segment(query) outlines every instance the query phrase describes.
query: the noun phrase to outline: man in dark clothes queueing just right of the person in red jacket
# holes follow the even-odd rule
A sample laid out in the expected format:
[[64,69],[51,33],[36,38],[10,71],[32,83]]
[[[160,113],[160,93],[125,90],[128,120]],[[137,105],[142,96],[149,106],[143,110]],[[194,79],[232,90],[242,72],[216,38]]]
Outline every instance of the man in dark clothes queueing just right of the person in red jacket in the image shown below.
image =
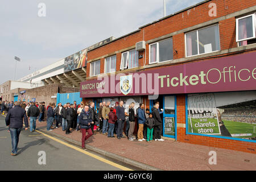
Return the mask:
[[117,138],[125,138],[123,136],[123,127],[125,125],[125,108],[123,107],[123,101],[119,102],[119,105],[116,107],[117,110]]

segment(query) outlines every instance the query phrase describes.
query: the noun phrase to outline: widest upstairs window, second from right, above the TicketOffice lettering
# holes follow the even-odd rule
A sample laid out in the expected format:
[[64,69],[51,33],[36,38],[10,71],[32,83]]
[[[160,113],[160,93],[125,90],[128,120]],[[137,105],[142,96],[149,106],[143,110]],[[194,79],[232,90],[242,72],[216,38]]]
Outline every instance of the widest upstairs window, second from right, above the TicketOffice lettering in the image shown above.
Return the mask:
[[195,56],[220,50],[218,25],[185,34],[186,56]]

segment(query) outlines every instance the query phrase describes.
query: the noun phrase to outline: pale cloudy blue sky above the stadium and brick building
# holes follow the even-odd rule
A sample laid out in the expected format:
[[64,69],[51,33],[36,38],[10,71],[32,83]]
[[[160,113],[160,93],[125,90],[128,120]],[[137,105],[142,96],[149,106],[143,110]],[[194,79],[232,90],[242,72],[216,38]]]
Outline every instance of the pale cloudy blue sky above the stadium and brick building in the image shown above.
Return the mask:
[[[170,15],[203,0],[166,0]],[[39,17],[39,3],[46,16]],[[163,0],[2,1],[0,6],[0,84],[92,46],[110,36],[118,38],[163,17]],[[29,70],[28,68],[31,67]]]

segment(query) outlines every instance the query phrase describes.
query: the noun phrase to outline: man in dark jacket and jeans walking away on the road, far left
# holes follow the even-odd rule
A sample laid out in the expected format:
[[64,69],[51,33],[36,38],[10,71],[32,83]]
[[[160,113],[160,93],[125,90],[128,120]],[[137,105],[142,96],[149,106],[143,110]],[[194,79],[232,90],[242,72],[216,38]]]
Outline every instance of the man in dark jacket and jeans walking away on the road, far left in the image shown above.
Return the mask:
[[9,126],[11,134],[11,145],[13,147],[11,155],[13,156],[17,155],[18,153],[19,134],[23,127],[23,118],[25,123],[25,130],[27,130],[28,119],[26,110],[22,109],[20,102],[18,101],[5,118],[6,126]]

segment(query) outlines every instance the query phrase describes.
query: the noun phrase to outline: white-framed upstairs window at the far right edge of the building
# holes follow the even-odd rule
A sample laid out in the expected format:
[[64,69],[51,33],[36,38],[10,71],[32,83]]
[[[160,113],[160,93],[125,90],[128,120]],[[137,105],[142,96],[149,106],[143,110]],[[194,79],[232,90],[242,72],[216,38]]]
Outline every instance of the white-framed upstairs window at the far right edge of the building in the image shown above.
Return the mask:
[[239,46],[255,43],[255,22],[255,14],[236,19],[236,41],[239,42]]

